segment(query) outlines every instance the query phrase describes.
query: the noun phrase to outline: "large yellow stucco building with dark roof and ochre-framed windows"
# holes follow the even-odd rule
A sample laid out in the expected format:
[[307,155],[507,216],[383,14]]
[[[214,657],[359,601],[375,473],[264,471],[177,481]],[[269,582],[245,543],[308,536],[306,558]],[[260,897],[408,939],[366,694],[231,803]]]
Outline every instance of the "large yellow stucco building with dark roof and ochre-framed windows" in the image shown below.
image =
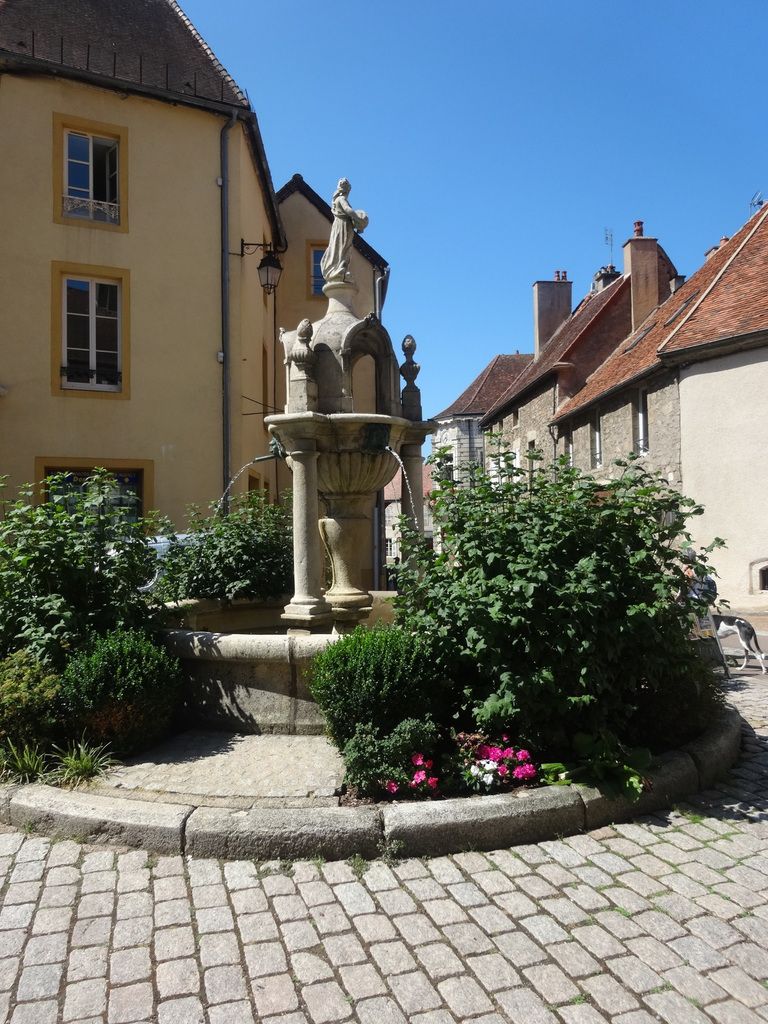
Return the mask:
[[172,0],[4,0],[0,135],[0,474],[105,466],[181,523],[267,451],[282,374],[255,115]]

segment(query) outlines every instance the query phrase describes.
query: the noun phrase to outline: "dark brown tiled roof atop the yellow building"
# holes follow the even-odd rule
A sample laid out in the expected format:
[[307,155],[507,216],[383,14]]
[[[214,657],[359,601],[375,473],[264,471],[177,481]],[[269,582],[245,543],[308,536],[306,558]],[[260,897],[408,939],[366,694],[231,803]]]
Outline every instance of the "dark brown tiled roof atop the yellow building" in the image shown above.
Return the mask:
[[175,0],[0,0],[0,56],[248,109]]

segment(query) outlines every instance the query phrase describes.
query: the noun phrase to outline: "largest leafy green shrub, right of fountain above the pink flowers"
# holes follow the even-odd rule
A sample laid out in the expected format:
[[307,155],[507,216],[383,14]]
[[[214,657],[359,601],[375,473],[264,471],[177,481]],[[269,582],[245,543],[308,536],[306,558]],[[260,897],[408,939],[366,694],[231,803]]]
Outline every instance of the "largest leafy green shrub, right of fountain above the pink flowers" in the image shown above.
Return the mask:
[[[564,461],[523,471],[499,451],[496,464],[494,479],[474,467],[470,486],[437,485],[440,548],[407,537],[395,599],[479,726],[566,759],[577,733],[655,745],[680,708],[707,718],[683,702],[698,667],[680,560],[702,509],[634,461],[607,483]],[[707,553],[694,561],[703,575]],[[644,729],[633,724],[642,706]]]

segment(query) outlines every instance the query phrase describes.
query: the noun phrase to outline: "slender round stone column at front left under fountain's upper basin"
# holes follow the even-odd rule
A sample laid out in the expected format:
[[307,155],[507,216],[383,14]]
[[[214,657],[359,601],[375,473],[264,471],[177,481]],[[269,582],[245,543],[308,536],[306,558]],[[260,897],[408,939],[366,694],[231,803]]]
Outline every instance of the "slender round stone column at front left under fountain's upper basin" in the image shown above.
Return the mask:
[[[302,443],[302,442],[298,442]],[[283,612],[296,626],[324,625],[331,605],[323,596],[323,548],[317,528],[317,452],[307,440],[288,455],[293,473],[294,595]]]

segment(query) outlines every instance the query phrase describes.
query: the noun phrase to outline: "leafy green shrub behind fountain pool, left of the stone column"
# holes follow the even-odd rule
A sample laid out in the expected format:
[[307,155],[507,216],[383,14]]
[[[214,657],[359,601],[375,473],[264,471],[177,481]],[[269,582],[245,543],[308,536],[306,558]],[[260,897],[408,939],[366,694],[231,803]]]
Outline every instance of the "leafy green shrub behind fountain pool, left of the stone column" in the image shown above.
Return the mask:
[[217,505],[210,516],[193,508],[189,531],[163,560],[156,588],[161,600],[267,599],[293,590],[290,510],[270,505],[259,492],[232,499],[226,515]]

